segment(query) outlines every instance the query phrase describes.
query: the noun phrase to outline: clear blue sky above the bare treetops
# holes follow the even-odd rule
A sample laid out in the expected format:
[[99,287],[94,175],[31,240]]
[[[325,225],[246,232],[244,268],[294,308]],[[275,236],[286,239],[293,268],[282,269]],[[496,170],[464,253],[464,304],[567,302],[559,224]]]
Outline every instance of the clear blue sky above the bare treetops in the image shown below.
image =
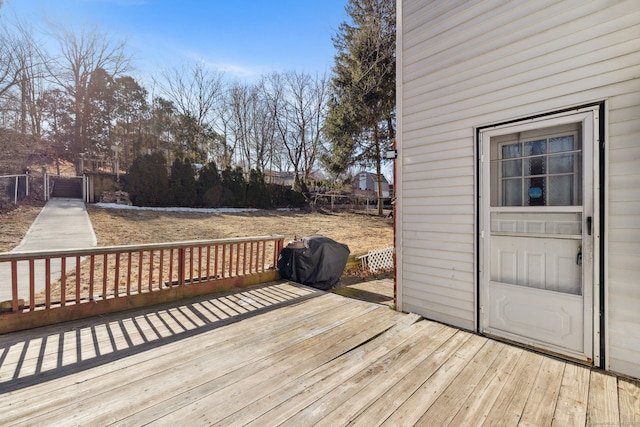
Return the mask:
[[193,59],[231,79],[271,71],[330,73],[331,37],[347,20],[347,0],[5,0],[3,18],[34,27],[47,19],[126,37],[143,80]]

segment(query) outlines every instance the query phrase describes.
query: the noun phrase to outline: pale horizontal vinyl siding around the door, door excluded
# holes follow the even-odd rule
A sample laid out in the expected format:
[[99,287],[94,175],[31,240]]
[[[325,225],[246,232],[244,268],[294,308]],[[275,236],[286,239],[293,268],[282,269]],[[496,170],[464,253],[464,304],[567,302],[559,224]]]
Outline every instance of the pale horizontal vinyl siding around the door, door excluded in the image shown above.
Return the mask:
[[398,1],[398,306],[477,329],[475,128],[606,102],[605,360],[640,377],[640,3]]

